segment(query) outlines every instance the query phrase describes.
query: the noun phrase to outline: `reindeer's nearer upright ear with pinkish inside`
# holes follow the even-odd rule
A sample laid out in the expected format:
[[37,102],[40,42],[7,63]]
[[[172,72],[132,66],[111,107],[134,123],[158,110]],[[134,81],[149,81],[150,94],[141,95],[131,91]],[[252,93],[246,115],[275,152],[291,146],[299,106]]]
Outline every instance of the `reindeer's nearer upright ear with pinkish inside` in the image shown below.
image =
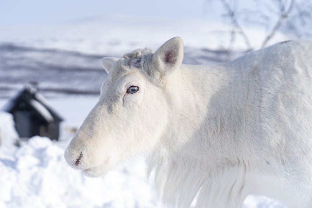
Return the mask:
[[162,70],[162,74],[167,74],[178,68],[182,60],[183,40],[181,37],[171,38],[160,46],[153,55],[153,63],[156,64],[156,70]]

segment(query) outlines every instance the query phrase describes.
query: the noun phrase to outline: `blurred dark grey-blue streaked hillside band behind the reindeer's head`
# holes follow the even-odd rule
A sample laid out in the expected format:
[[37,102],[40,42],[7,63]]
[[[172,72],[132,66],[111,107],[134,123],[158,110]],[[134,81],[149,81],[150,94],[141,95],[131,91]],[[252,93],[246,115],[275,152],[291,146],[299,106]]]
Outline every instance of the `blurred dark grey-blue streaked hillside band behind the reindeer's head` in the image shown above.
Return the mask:
[[[243,54],[232,53],[236,53],[237,56]],[[31,82],[36,82],[38,90],[46,97],[100,94],[100,87],[107,77],[100,64],[104,56],[110,55],[90,55],[76,51],[2,43],[0,44],[0,98],[12,96]],[[228,57],[226,51],[186,47],[183,63],[213,65],[227,61]]]

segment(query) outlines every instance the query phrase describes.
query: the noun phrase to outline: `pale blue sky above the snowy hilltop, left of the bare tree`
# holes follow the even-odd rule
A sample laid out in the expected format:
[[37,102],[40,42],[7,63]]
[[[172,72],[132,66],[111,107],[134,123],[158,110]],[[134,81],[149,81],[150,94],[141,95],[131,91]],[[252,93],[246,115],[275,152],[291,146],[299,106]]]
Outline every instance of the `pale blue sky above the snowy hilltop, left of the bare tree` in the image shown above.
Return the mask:
[[0,26],[57,24],[79,19],[124,14],[211,19],[213,0],[2,0]]

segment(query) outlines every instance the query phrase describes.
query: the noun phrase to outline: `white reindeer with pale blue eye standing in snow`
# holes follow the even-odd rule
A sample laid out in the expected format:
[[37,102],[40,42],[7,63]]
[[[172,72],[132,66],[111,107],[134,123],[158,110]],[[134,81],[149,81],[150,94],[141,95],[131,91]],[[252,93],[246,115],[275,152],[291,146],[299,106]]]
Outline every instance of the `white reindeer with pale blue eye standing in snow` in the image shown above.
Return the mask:
[[155,53],[103,58],[99,102],[66,152],[97,177],[141,152],[163,202],[238,208],[264,195],[312,207],[312,41],[295,40],[216,66],[184,65],[175,37]]

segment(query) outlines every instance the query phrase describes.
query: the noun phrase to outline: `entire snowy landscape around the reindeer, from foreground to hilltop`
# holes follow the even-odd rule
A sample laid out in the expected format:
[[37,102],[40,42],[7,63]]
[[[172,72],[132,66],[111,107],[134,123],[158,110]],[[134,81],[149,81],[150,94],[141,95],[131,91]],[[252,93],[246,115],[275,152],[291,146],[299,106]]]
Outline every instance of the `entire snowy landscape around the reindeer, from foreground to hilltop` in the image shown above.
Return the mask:
[[[127,21],[125,21],[127,20]],[[31,79],[65,121],[61,140],[31,138],[22,147],[13,145],[17,133],[12,116],[0,113],[0,208],[19,207],[162,207],[153,181],[145,180],[148,159],[129,159],[99,178],[72,170],[63,158],[78,128],[97,102],[106,75],[102,56],[122,56],[135,48],[157,49],[173,36],[186,47],[185,63],[213,64],[227,59],[218,49],[226,47],[227,26],[198,20],[99,17],[49,26],[0,28],[0,108]],[[248,31],[257,47],[261,32]],[[222,33],[223,34],[223,33]],[[275,41],[285,40],[278,35]],[[238,41],[236,50],[243,48]],[[209,49],[209,50],[208,50]],[[211,51],[214,50],[214,51]],[[76,95],[74,95],[76,94]],[[89,94],[89,95],[83,95]],[[90,95],[93,94],[93,95]],[[275,200],[250,196],[244,208],[284,208]]]

